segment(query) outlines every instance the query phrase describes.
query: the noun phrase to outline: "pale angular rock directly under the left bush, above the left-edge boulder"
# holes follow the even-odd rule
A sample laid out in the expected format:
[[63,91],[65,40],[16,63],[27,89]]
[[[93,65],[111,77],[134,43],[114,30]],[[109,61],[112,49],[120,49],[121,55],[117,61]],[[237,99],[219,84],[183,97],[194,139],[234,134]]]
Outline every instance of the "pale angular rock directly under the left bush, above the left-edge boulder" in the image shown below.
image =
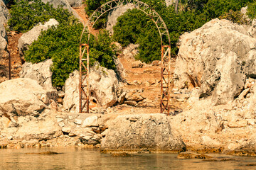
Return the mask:
[[44,89],[53,89],[52,86],[52,74],[50,67],[53,61],[46,60],[44,62],[39,62],[37,64],[32,64],[31,62],[25,62],[22,65],[20,72],[21,78],[30,78],[38,81],[38,84],[43,86]]

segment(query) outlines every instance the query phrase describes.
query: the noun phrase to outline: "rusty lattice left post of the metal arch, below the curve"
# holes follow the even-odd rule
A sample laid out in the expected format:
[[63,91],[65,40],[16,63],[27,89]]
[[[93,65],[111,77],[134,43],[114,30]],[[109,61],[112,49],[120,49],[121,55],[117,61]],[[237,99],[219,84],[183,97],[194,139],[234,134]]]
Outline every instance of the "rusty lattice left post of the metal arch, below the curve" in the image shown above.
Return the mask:
[[89,113],[89,45],[80,44],[79,58],[79,113]]

